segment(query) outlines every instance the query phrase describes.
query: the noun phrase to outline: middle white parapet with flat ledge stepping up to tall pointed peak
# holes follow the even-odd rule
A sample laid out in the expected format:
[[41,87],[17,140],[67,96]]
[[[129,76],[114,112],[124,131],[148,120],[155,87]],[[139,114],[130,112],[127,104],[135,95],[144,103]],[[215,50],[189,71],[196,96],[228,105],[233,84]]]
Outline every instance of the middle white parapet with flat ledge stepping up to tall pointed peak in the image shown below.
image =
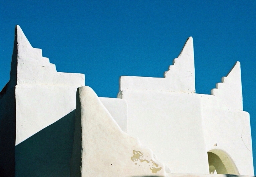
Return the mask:
[[[194,74],[193,38],[189,37],[178,58],[164,73],[165,78],[149,78],[137,76],[121,76],[120,91],[124,90],[155,90],[190,92],[196,91]],[[119,95],[121,95],[119,92]]]

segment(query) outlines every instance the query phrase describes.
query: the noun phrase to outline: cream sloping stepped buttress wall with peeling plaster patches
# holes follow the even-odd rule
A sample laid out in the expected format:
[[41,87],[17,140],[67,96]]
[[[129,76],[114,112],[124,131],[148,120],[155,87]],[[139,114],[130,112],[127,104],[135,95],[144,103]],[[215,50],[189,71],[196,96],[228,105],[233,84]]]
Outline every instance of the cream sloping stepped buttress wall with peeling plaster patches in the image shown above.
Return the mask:
[[146,175],[166,176],[165,166],[140,145],[138,138],[120,129],[90,87],[79,87],[71,176]]

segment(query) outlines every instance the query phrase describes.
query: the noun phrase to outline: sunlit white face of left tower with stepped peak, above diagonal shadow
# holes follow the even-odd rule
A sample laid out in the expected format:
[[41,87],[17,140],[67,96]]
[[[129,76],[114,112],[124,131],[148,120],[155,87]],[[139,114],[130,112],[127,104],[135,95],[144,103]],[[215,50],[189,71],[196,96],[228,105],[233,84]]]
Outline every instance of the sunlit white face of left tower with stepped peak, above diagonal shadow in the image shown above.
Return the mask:
[[[75,109],[84,74],[59,73],[16,26],[9,87],[16,84],[16,145]],[[15,53],[16,52],[16,53]],[[15,63],[16,62],[16,66]],[[16,83],[14,80],[16,79]],[[12,82],[11,82],[12,81]]]

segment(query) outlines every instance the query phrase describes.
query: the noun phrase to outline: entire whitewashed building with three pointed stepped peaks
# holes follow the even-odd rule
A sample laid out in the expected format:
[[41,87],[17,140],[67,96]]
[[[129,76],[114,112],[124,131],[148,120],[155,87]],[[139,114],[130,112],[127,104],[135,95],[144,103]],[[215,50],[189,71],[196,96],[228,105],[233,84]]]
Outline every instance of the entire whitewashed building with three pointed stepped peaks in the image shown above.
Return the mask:
[[240,63],[195,93],[193,39],[164,78],[121,76],[118,98],[59,73],[15,29],[0,92],[0,176],[254,176]]

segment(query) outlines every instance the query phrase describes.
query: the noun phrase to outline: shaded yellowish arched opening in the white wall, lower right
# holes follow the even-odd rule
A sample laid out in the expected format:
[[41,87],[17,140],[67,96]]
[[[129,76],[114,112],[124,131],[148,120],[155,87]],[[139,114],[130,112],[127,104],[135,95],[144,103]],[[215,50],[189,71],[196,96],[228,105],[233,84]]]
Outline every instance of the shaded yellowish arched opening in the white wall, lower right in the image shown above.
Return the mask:
[[224,151],[213,149],[207,152],[207,154],[210,174],[239,175],[234,161]]

